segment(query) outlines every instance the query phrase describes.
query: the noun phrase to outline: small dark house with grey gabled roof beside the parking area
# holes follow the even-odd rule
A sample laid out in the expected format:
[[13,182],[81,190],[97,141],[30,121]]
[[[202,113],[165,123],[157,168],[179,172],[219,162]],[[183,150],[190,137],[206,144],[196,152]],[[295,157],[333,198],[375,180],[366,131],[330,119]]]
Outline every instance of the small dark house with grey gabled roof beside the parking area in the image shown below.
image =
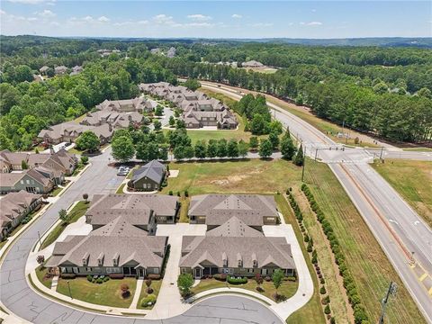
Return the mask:
[[132,172],[132,179],[128,185],[135,190],[159,190],[166,179],[166,166],[157,160],[152,160]]

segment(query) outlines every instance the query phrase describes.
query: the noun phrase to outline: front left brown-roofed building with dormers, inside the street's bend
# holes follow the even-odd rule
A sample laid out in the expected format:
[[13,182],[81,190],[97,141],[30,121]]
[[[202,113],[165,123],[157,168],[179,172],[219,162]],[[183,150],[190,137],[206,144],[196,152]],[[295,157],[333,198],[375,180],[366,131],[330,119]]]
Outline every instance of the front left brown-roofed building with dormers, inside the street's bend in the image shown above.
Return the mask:
[[57,242],[46,266],[50,273],[78,276],[161,275],[167,240],[147,236],[119,217],[87,236],[67,236]]

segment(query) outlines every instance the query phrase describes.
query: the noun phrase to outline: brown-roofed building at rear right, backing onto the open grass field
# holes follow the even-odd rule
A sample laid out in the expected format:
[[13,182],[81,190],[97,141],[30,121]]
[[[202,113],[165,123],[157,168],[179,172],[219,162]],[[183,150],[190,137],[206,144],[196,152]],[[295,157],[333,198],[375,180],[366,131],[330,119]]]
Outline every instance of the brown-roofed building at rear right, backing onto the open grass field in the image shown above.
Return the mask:
[[279,222],[275,198],[261,194],[202,194],[193,196],[188,211],[190,222],[214,229],[232,217],[261,230]]

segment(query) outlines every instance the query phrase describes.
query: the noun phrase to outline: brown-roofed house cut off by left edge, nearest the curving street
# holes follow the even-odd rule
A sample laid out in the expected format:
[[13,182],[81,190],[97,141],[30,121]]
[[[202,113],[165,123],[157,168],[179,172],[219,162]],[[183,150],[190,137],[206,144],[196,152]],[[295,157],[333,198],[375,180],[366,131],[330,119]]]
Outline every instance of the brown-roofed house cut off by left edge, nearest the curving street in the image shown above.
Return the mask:
[[4,239],[12,232],[25,216],[40,207],[42,198],[40,194],[20,191],[8,193],[1,201],[0,209],[1,232],[0,239]]

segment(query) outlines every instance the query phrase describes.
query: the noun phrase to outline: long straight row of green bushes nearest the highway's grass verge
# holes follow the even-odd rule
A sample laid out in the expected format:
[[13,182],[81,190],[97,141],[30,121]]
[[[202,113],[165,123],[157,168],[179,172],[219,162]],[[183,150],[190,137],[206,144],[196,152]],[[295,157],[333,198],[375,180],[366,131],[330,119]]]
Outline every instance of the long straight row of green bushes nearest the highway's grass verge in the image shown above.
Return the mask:
[[329,220],[326,219],[324,212],[321,211],[320,206],[315,201],[315,197],[313,196],[313,193],[311,193],[311,189],[307,184],[302,184],[302,192],[308,198],[308,201],[311,205],[311,210],[315,212],[317,220],[321,223],[324,234],[326,234],[327,238],[329,239],[331,250],[335,256],[336,264],[339,268],[339,274],[342,275],[344,287],[347,290],[348,301],[351,303],[351,307],[354,311],[356,324],[369,323],[365,308],[362,306],[360,296],[357,293],[356,283],[354,282],[354,279],[347,268],[345,256],[340,248],[338,238],[336,238]]

